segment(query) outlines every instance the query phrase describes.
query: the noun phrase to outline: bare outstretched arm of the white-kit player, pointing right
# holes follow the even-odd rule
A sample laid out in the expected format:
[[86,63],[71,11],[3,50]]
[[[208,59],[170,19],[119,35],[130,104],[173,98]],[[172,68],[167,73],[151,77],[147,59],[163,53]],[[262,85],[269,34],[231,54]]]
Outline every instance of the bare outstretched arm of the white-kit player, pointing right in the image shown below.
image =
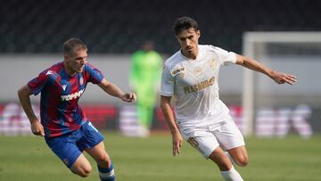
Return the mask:
[[236,54],[236,64],[242,65],[245,68],[250,70],[255,70],[266,74],[269,78],[272,78],[276,81],[277,84],[290,84],[293,85],[296,82],[296,77],[290,74],[286,74],[284,72],[278,72],[275,70],[269,69],[264,64],[251,59],[250,57],[245,57],[240,54]]

